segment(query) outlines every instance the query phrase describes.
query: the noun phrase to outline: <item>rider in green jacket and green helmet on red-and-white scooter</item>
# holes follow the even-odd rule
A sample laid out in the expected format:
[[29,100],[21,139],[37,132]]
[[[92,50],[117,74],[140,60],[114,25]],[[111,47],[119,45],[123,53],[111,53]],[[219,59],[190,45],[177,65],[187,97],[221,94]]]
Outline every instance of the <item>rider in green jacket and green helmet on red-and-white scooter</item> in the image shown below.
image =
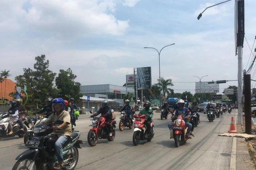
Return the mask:
[[150,108],[150,101],[146,101],[144,102],[144,108],[140,111],[139,114],[146,114],[147,117],[145,119],[145,125],[147,126],[147,129],[146,129],[146,135],[145,137],[147,137],[147,135],[150,133],[151,131],[151,122],[152,122],[152,118],[153,118],[153,110]]

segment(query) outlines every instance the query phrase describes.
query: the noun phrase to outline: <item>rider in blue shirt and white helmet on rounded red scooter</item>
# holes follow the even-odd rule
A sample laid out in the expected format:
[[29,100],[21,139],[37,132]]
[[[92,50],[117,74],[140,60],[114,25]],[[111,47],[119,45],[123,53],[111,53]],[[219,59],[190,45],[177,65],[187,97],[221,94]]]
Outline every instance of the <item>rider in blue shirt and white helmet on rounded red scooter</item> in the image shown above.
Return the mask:
[[[182,99],[180,99],[180,100],[178,101],[178,109],[176,109],[176,111],[175,111],[175,116],[176,116],[176,117],[177,117],[178,115],[182,115],[182,116],[183,116],[182,119],[185,121],[185,126],[188,127],[188,131],[187,131],[185,137],[186,137],[187,139],[192,139],[192,137],[189,136],[190,131],[191,131],[191,129],[192,129],[192,124],[189,123],[188,120],[187,120],[187,116],[190,116],[191,113],[190,113],[189,109],[188,109],[187,107],[184,107],[184,106],[185,106],[185,101],[182,100]],[[173,122],[170,122],[170,123],[168,124],[168,127],[169,127],[169,129],[170,129],[170,133],[173,133],[173,132],[172,132]]]

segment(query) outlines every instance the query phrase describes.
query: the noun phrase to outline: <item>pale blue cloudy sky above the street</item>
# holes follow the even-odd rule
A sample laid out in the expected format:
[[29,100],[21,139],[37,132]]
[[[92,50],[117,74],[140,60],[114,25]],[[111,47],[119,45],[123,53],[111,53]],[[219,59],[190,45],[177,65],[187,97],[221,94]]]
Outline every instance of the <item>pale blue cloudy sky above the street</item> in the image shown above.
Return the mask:
[[[160,50],[175,43],[161,52],[161,77],[173,80],[174,92],[195,93],[198,78],[193,76],[208,75],[202,81],[237,79],[234,1],[208,9],[197,20],[204,8],[220,1],[0,0],[0,70],[10,70],[14,80],[45,54],[50,70],[70,67],[82,85],[122,86],[136,67],[151,67],[154,84],[158,54],[143,47]],[[245,36],[251,48],[255,7],[255,0],[245,1]],[[244,42],[244,69],[251,53],[248,44]],[[220,92],[230,85],[237,82],[220,84]]]

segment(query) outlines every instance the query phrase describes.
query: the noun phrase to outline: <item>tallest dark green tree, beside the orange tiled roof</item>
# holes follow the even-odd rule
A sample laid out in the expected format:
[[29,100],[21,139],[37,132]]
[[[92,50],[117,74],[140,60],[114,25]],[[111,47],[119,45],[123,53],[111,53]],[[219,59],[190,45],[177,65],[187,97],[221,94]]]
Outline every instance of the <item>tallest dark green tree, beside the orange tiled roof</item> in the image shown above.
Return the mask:
[[27,86],[28,106],[42,107],[46,97],[57,96],[57,90],[53,86],[56,73],[48,69],[49,60],[46,60],[45,55],[35,57],[35,61],[34,70],[23,68],[23,75],[16,76],[15,80],[17,86]]

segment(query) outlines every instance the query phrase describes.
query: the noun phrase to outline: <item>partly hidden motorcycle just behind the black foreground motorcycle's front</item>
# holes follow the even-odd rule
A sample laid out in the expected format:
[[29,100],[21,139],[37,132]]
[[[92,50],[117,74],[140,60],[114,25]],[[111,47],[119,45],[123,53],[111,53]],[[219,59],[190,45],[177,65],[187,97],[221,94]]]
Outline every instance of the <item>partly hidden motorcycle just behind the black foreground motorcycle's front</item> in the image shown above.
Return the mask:
[[24,144],[27,143],[28,140],[31,140],[34,136],[34,132],[33,132],[33,129],[36,125],[38,125],[39,123],[42,123],[46,120],[47,118],[44,117],[43,114],[40,114],[39,116],[36,115],[36,116],[33,116],[31,118],[28,118],[28,122],[31,124],[31,127],[27,130],[27,132],[25,133],[24,135],[24,139],[23,139],[23,142]]

